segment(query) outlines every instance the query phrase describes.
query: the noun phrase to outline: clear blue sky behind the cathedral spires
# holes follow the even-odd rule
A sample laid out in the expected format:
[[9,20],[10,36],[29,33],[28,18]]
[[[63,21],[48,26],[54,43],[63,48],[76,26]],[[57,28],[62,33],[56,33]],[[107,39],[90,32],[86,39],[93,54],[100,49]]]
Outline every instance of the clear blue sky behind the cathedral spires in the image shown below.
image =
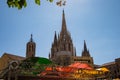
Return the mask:
[[62,11],[71,33],[77,56],[81,56],[84,40],[95,64],[120,58],[120,0],[67,0],[59,7],[41,0],[27,0],[21,10],[9,8],[0,0],[0,56],[5,52],[26,56],[26,44],[33,34],[36,56],[48,58],[55,31],[61,31]]

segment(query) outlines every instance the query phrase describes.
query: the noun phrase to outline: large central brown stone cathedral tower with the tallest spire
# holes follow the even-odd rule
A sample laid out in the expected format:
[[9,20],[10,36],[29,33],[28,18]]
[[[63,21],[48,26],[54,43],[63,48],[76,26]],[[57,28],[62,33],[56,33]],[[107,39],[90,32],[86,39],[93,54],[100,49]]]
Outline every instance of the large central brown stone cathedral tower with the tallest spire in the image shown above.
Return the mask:
[[49,58],[59,65],[68,65],[70,62],[64,61],[66,61],[65,59],[67,58],[70,59],[71,56],[76,56],[76,53],[75,48],[73,47],[71,35],[67,30],[65,13],[63,10],[62,27],[60,35],[57,36],[55,32],[54,41],[52,43],[51,54],[49,54]]

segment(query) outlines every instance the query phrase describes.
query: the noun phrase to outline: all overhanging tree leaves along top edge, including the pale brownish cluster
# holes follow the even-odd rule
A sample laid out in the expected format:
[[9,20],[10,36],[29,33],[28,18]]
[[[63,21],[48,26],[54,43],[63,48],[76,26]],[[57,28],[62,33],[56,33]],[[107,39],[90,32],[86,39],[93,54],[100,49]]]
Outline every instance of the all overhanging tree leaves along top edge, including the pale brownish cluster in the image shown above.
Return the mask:
[[[34,0],[37,5],[40,5],[41,0]],[[53,0],[47,0],[49,2],[53,2]],[[66,0],[58,0],[56,5],[65,6]],[[7,4],[9,7],[22,9],[27,6],[27,0],[7,0]]]

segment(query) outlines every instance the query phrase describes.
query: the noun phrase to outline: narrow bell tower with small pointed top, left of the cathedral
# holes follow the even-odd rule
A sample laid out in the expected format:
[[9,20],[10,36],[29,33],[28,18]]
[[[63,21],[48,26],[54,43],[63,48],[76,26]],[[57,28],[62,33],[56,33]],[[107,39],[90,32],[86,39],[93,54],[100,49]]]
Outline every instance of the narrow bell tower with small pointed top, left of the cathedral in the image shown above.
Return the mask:
[[27,43],[26,45],[26,58],[29,58],[29,57],[35,57],[35,49],[36,49],[36,44],[35,42],[33,41],[33,38],[32,38],[32,34],[31,34],[31,38],[30,38],[30,41]]

